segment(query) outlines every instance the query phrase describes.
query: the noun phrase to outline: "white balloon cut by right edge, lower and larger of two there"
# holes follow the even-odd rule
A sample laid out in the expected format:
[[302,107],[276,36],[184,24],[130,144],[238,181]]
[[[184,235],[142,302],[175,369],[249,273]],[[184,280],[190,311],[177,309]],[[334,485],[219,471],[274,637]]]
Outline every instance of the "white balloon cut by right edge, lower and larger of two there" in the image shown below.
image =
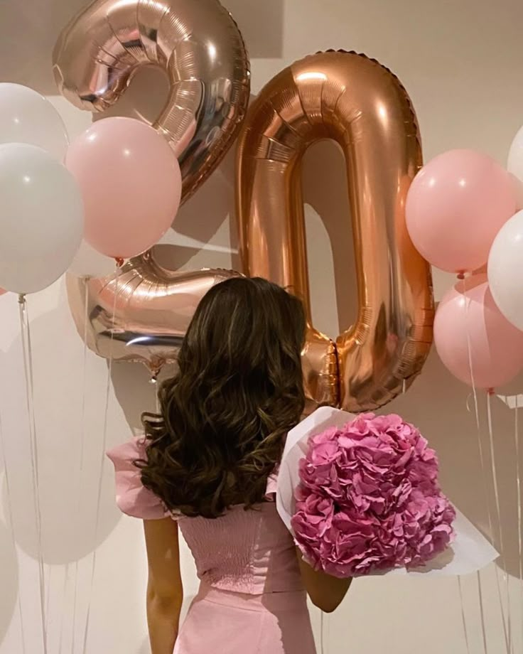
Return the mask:
[[523,330],[523,211],[503,225],[492,244],[488,282],[498,309]]

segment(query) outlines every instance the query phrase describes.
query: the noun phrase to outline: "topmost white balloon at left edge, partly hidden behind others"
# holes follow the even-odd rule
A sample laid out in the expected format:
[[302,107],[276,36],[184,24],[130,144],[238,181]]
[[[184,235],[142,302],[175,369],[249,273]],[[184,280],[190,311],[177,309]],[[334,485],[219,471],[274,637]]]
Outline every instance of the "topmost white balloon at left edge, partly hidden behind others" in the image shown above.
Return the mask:
[[36,145],[63,161],[69,139],[65,124],[47,98],[33,89],[0,83],[0,144]]

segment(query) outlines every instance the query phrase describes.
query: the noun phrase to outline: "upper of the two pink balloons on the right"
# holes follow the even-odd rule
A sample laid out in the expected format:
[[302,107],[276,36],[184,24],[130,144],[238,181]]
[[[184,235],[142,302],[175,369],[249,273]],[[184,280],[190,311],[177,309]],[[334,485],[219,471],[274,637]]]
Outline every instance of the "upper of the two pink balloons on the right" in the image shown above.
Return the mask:
[[429,161],[406,200],[414,246],[434,266],[470,272],[488,259],[497,232],[516,212],[516,188],[490,156],[451,150]]

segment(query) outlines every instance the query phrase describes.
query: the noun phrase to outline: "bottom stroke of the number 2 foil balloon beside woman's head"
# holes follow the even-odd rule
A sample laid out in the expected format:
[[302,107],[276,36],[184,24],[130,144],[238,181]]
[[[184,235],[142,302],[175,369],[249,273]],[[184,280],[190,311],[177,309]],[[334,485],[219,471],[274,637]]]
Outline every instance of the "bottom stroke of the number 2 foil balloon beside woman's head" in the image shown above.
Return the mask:
[[77,331],[87,336],[90,350],[115,361],[144,363],[156,377],[163,365],[176,360],[205,293],[237,276],[219,269],[173,272],[148,252],[106,279],[68,275],[67,288]]

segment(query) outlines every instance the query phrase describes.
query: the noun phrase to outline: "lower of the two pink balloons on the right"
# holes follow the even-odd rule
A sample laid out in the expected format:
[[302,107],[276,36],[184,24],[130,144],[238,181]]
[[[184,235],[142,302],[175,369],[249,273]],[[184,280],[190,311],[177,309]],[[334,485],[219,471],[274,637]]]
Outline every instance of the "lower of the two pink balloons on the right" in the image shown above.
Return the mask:
[[485,274],[463,279],[443,297],[434,343],[446,368],[470,386],[496,388],[523,369],[523,331],[497,309]]

